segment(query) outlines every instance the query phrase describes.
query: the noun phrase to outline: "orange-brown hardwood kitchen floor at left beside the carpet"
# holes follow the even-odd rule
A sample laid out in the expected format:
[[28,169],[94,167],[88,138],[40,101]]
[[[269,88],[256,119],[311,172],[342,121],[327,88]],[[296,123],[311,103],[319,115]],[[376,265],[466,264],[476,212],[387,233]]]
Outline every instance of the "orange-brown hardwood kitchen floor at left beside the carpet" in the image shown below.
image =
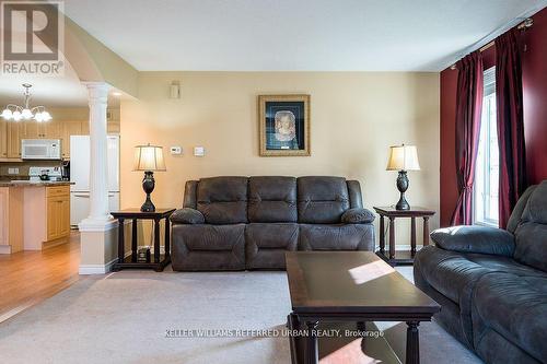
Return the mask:
[[80,279],[80,234],[42,251],[0,255],[0,322],[65,290]]

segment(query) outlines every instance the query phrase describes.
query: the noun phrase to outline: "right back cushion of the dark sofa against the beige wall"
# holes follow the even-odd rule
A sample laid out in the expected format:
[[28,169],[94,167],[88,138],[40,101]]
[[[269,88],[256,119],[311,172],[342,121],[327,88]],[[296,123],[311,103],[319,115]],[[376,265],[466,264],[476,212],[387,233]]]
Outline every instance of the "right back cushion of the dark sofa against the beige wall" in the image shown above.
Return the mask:
[[298,178],[299,222],[336,224],[349,209],[346,179],[341,177]]

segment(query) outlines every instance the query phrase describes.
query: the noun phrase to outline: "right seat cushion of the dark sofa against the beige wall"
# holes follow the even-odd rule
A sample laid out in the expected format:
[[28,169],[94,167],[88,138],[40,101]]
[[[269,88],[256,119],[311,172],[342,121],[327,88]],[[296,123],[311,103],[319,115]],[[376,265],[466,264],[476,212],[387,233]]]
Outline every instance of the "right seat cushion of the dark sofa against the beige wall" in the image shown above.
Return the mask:
[[299,250],[374,250],[372,224],[300,224]]

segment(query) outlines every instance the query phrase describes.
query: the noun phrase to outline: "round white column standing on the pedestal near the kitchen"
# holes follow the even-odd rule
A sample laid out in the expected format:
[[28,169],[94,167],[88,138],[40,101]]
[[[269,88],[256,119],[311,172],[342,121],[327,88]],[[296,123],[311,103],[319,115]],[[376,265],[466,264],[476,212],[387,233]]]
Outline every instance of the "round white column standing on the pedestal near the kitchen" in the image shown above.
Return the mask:
[[104,226],[112,221],[108,211],[108,168],[106,143],[106,106],[109,85],[85,82],[90,105],[90,215],[80,228]]

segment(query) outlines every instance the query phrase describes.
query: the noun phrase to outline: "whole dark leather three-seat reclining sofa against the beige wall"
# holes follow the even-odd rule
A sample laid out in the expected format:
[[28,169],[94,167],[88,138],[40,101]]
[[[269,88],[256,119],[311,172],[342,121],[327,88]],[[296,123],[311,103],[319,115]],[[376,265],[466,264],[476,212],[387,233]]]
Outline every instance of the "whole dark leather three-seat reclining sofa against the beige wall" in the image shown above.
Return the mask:
[[175,211],[174,270],[284,269],[288,250],[373,250],[374,214],[342,177],[189,180]]

